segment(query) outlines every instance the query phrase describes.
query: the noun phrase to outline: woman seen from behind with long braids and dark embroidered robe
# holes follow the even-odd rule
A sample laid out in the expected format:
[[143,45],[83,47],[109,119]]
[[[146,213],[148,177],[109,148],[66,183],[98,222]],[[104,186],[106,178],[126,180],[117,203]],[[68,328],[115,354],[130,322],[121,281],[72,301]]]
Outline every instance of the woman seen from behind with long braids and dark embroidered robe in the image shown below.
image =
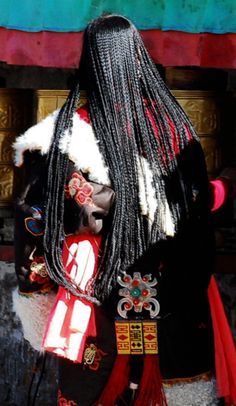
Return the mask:
[[[41,301],[48,316],[50,290],[43,347],[60,359],[59,405],[217,404],[199,139],[124,17],[88,25],[80,81],[86,106],[78,82],[15,143],[31,168],[17,203],[18,313]],[[114,319],[127,355],[116,357]]]

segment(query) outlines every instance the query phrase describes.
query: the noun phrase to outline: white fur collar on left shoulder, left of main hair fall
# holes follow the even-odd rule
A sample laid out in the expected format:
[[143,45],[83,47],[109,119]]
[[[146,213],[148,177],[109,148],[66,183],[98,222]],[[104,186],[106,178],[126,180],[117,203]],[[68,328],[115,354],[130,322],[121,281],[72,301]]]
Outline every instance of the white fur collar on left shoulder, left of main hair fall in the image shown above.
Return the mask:
[[[59,110],[54,111],[16,139],[13,144],[16,166],[22,165],[24,152],[27,150],[38,150],[42,155],[49,151],[58,112]],[[110,186],[108,168],[99,151],[92,126],[82,120],[78,113],[73,116],[71,136],[67,131],[59,147],[63,153],[69,155],[76,169],[88,173],[90,180]]]

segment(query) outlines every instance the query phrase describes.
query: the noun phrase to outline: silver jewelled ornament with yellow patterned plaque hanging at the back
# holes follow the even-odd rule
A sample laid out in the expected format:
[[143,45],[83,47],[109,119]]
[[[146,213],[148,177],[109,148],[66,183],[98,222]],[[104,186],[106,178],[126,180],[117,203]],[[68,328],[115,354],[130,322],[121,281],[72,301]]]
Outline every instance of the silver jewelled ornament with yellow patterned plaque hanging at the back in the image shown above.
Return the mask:
[[[157,318],[160,312],[155,298],[157,291],[153,288],[157,285],[156,278],[152,278],[151,274],[141,276],[139,272],[134,272],[133,277],[128,274],[118,277],[118,283],[122,286],[118,291],[122,299],[117,305],[122,319],[115,322],[118,354],[157,354],[157,321],[150,320]],[[144,310],[149,312],[149,320],[144,320]],[[130,311],[135,320],[128,320]],[[139,317],[136,318],[135,313]]]

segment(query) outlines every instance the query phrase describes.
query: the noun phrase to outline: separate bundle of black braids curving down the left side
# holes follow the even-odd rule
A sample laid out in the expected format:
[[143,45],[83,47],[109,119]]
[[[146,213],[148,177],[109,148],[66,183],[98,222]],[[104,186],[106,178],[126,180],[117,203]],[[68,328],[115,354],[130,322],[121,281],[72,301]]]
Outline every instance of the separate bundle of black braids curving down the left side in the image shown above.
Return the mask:
[[[59,149],[59,143],[66,131],[71,133],[73,114],[80,98],[79,85],[69,94],[66,103],[59,111],[54,138],[47,158],[47,186],[45,192],[45,233],[44,255],[49,276],[58,284],[80,297],[62,264],[62,244],[64,240],[64,190],[69,157]],[[69,142],[69,140],[68,140]],[[93,299],[91,299],[93,301]],[[96,300],[94,300],[96,301]]]

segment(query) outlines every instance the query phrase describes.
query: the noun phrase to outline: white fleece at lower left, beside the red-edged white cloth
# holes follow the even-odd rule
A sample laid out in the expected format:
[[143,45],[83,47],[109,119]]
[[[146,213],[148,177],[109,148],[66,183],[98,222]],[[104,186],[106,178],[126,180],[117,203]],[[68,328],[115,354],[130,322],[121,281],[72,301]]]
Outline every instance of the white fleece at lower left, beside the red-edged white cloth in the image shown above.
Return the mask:
[[17,289],[13,291],[13,310],[21,321],[24,338],[37,351],[42,351],[44,330],[55,297],[54,292],[24,296]]

